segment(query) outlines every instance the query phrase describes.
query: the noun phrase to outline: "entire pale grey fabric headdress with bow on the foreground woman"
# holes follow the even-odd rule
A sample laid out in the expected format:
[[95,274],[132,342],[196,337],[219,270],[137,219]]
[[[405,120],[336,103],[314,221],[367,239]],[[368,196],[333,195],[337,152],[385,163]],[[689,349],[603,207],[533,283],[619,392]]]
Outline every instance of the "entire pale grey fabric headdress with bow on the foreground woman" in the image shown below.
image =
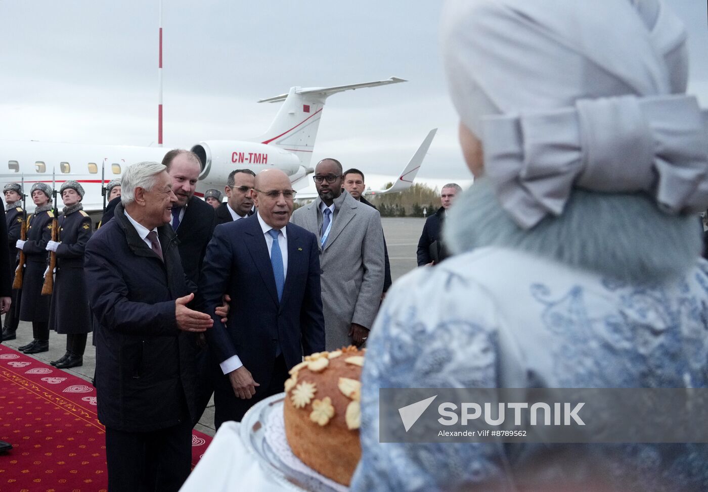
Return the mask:
[[708,208],[686,37],[660,0],[446,2],[452,102],[520,227],[562,213],[573,187],[645,192],[668,213]]

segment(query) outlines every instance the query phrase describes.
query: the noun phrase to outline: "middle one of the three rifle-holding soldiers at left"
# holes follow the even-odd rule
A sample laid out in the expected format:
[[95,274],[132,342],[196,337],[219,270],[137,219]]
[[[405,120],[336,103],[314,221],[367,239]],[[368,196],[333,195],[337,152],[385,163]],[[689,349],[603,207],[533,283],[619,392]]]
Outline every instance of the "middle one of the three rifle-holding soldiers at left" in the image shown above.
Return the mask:
[[52,238],[52,187],[36,182],[30,189],[35,212],[27,219],[27,240],[18,240],[16,247],[25,253],[23,266],[20,320],[32,322],[33,341],[19,347],[24,353],[49,350],[50,296],[42,295],[47,269],[47,242]]

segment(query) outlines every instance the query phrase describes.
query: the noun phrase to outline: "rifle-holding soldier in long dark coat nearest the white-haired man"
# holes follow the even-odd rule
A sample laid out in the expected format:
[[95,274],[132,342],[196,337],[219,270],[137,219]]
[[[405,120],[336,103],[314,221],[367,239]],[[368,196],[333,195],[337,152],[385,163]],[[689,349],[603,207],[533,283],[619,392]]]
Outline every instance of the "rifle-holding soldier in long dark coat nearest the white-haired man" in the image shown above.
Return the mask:
[[84,250],[91,238],[91,217],[81,200],[84,188],[74,180],[59,189],[64,210],[59,217],[59,241],[47,242],[47,251],[57,254],[57,276],[52,293],[49,326],[67,335],[67,353],[51,364],[59,369],[84,363],[86,338],[91,332],[89,297],[84,281]]

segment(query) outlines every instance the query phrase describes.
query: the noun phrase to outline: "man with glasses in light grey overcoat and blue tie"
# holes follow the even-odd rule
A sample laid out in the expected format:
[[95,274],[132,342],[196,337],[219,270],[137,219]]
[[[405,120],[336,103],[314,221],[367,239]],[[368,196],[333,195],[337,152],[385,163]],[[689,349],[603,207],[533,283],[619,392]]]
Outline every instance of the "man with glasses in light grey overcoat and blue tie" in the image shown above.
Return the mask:
[[315,168],[319,197],[292,214],[317,237],[327,350],[365,343],[384,288],[384,234],[376,209],[342,190],[342,165],[323,159]]

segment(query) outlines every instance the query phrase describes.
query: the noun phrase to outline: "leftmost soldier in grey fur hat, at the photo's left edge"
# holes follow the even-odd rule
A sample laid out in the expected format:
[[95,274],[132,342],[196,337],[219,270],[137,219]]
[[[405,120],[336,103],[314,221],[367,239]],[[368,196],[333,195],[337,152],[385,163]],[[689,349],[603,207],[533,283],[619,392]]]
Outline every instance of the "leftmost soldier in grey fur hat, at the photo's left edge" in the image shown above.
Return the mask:
[[[20,239],[22,222],[25,217],[25,211],[22,208],[22,187],[18,183],[8,183],[2,191],[5,195],[6,204],[5,218],[7,220],[8,246],[10,249],[10,268],[12,269],[11,275],[14,276],[19,254],[19,250],[15,245],[17,240]],[[20,293],[19,289],[12,290],[12,304],[5,315],[2,329],[3,341],[14,340],[17,337],[15,332],[20,322]]]

